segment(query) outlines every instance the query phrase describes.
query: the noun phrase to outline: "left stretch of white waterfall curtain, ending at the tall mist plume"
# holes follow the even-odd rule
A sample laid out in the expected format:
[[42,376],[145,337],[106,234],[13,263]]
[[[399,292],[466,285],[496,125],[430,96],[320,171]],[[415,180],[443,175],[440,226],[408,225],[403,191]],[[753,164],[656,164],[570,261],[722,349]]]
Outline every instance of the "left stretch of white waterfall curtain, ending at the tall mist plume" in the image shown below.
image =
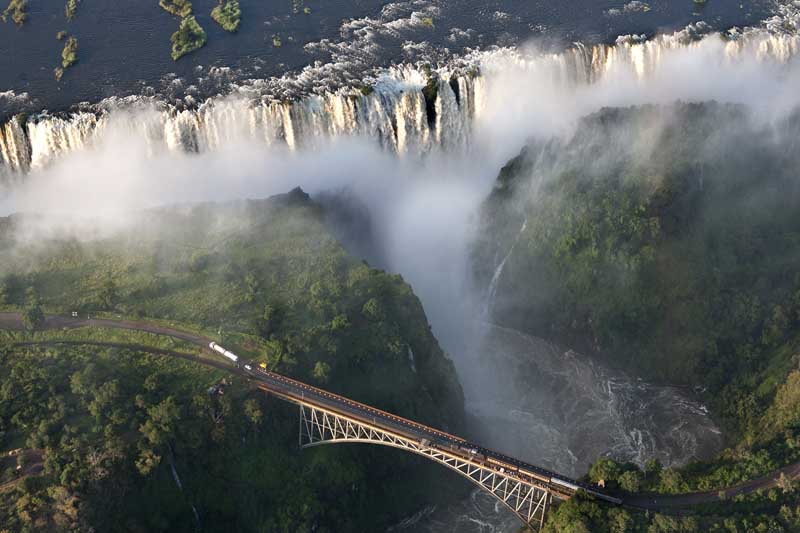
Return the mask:
[[[461,103],[444,75],[437,76],[436,118],[426,112],[424,75],[415,81],[380,81],[370,94],[341,91],[298,102],[252,102],[243,97],[212,98],[196,110],[177,110],[150,100],[127,106],[104,106],[68,116],[39,115],[23,125],[14,118],[0,129],[0,172],[23,174],[103,137],[113,122],[142,136],[154,150],[206,152],[240,139],[266,145],[283,143],[291,150],[313,148],[327,138],[362,135],[377,139],[397,154],[423,154],[432,143],[451,149],[469,142],[478,113],[482,84],[473,77],[454,78]],[[145,110],[146,119],[142,117]],[[2,174],[0,174],[2,175]]]

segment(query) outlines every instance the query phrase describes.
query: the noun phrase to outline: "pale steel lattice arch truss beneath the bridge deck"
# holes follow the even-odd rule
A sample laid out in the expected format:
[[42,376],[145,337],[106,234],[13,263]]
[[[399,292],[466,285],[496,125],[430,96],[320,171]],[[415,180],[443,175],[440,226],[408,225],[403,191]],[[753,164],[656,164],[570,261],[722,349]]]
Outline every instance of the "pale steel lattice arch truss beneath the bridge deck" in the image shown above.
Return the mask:
[[544,485],[522,480],[510,473],[465,459],[446,448],[425,444],[376,425],[318,407],[300,405],[300,446],[308,448],[337,442],[381,444],[416,453],[450,468],[500,500],[529,526],[541,529],[552,502],[552,493]]

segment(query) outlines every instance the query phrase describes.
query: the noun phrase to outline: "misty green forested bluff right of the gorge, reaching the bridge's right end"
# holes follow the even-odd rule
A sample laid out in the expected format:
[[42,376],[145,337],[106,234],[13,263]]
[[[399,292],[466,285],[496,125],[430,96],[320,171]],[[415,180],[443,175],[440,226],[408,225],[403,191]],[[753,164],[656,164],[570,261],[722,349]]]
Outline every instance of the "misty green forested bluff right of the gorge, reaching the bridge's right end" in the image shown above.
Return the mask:
[[[595,477],[612,488],[721,489],[800,460],[798,133],[800,116],[769,123],[733,105],[604,109],[502,169],[473,254],[492,320],[691,386],[731,435],[682,471],[603,463]],[[791,490],[739,502],[724,524],[711,509],[639,526],[797,530]],[[562,507],[553,531],[634,529]]]

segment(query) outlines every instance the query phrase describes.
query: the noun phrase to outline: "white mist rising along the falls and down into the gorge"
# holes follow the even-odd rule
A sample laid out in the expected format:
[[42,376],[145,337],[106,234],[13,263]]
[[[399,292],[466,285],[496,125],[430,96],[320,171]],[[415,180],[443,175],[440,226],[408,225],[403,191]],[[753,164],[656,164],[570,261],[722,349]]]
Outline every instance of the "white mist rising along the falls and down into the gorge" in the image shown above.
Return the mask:
[[[481,411],[484,418],[502,417],[511,409],[508,402],[524,387],[508,379],[522,365],[518,354],[529,349],[529,343],[515,340],[522,346],[511,350],[516,362],[497,359],[493,364],[498,371],[476,364],[479,358],[492,359],[494,352],[484,348],[490,319],[484,315],[487,287],[474,283],[470,264],[478,213],[502,165],[529,139],[566,141],[576,134],[581,117],[607,106],[716,100],[747,105],[756,120],[769,123],[800,104],[800,65],[793,53],[770,55],[754,41],[738,46],[718,35],[688,44],[681,37],[672,39],[639,45],[622,42],[589,79],[575,74],[575,61],[568,53],[545,54],[536,43],[522,50],[481,54],[482,92],[469,143],[434,146],[420,153],[395,154],[365,135],[316,139],[309,147],[292,150],[267,145],[244,127],[225,131],[213,150],[185,153],[153,145],[131,130],[130,124],[139,117],[143,124],[152,121],[155,109],[112,111],[102,137],[59,155],[10,186],[0,198],[0,215],[63,215],[91,221],[95,231],[114,231],[154,206],[266,197],[296,186],[312,198],[346,191],[366,206],[371,235],[380,243],[380,253],[370,262],[400,273],[420,297],[437,339],[465,384],[468,408]],[[760,39],[763,44],[772,37]],[[796,50],[797,43],[792,42],[795,48],[790,48]],[[226,103],[248,105],[235,97],[226,98]],[[647,150],[658,150],[645,141],[637,147],[643,156]],[[25,237],[53,229],[42,221]],[[76,237],[86,235],[80,225],[75,231]],[[480,353],[483,349],[487,353]],[[588,381],[584,367],[574,373]],[[578,394],[579,388],[573,392]],[[602,391],[588,385],[583,390],[600,398],[598,403],[611,403]],[[629,426],[618,425],[620,438],[625,438]],[[527,433],[497,431],[482,436],[491,439],[487,445],[538,459],[531,450],[538,444]],[[545,448],[563,455],[565,442],[554,436]],[[650,454],[658,447],[648,446]],[[565,471],[583,466],[563,457],[553,464]]]

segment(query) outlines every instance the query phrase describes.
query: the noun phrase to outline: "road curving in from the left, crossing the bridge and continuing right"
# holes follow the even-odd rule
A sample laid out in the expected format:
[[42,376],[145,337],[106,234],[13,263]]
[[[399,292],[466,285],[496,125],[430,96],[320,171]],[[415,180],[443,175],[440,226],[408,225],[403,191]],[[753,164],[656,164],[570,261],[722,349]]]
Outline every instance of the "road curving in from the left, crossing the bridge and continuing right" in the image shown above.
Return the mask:
[[[211,353],[215,353],[209,350],[208,345],[210,342],[212,342],[212,340],[207,337],[204,337],[196,333],[181,331],[178,329],[161,326],[158,324],[152,324],[148,322],[140,322],[132,320],[74,318],[74,317],[63,317],[63,316],[53,315],[53,316],[48,316],[45,319],[44,325],[42,326],[43,329],[75,329],[82,327],[127,329],[134,331],[143,331],[147,333],[154,333],[158,335],[166,335],[186,342],[190,342],[192,344],[197,345],[198,347],[202,348],[205,351],[210,351]],[[22,316],[19,313],[0,313],[0,329],[10,329],[10,330],[24,329]],[[332,409],[338,410],[339,412],[342,412],[343,414],[354,416],[358,419],[364,420],[365,422],[373,423],[375,425],[384,427],[385,429],[401,433],[411,438],[416,438],[416,439],[427,438],[434,442],[440,442],[445,445],[450,445],[454,451],[458,449],[460,450],[459,453],[462,454],[471,454],[472,453],[471,450],[474,450],[476,453],[484,455],[486,457],[492,457],[496,460],[512,464],[518,468],[535,472],[536,474],[541,475],[543,477],[560,479],[562,481],[574,484],[576,486],[591,490],[593,493],[603,496],[597,491],[595,487],[592,487],[590,485],[566,478],[555,472],[550,472],[548,470],[539,468],[535,465],[525,463],[523,461],[495,452],[493,450],[483,448],[477,444],[470,443],[460,437],[450,435],[449,433],[445,433],[443,431],[425,426],[423,424],[419,424],[412,420],[407,420],[405,418],[393,415],[391,413],[375,409],[374,407],[371,407],[369,405],[355,402],[353,400],[350,400],[349,398],[345,398],[343,396],[339,396],[330,393],[328,391],[312,387],[311,385],[308,385],[306,383],[287,378],[286,376],[282,376],[274,372],[264,371],[259,368],[254,367],[252,370],[246,371],[243,369],[234,368],[233,366],[222,360],[220,360],[219,362],[215,362],[213,360],[199,359],[170,350],[161,350],[146,346],[136,346],[136,345],[112,343],[112,342],[42,341],[35,343],[19,342],[15,344],[17,345],[89,344],[89,345],[115,346],[115,347],[125,347],[125,348],[138,347],[140,349],[150,352],[162,353],[164,355],[170,355],[174,357],[180,357],[183,359],[196,361],[208,366],[213,366],[215,368],[227,370],[233,373],[238,373],[248,378],[255,379],[256,381],[261,382],[267,389],[277,392],[289,399],[291,398],[306,399],[308,401],[318,403],[323,407],[330,407]],[[671,510],[674,511],[681,508],[688,508],[694,505],[718,502],[720,501],[719,495],[721,492],[724,492],[726,498],[731,498],[738,494],[749,494],[757,490],[769,489],[775,487],[777,486],[778,479],[782,473],[785,474],[790,479],[800,478],[800,462],[776,470],[775,472],[767,476],[754,479],[742,483],[740,485],[736,485],[734,487],[730,487],[728,489],[725,489],[724,491],[714,490],[707,492],[695,492],[689,494],[675,494],[675,495],[635,494],[635,495],[625,496],[623,498],[623,505],[639,509],[648,509],[655,511],[671,511]]]

